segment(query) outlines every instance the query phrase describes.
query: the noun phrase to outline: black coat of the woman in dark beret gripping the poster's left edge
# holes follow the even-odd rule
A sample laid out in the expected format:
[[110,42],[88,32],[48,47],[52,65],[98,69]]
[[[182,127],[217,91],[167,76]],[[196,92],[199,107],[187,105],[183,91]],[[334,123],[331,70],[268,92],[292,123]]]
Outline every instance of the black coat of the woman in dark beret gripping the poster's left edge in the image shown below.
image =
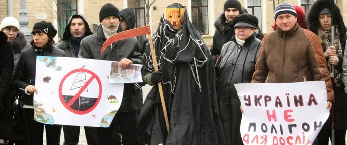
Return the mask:
[[[40,49],[34,44],[33,46],[24,50],[18,60],[17,69],[12,79],[13,88],[15,88],[17,92],[25,90],[25,88],[29,85],[35,85],[37,56],[66,57],[66,54],[64,51],[57,49],[56,47],[50,48],[48,45],[46,45],[44,49]],[[33,94],[28,95],[26,93],[22,93],[22,96],[23,103],[25,105],[33,106]]]

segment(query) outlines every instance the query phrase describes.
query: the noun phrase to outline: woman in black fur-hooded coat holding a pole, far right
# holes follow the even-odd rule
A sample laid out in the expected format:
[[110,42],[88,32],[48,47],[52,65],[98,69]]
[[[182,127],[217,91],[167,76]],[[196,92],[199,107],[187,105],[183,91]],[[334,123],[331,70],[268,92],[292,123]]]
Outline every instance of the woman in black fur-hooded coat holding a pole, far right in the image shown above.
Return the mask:
[[[333,78],[335,92],[334,104],[334,130],[335,144],[345,144],[345,135],[347,130],[347,98],[344,92],[342,62],[343,49],[346,46],[346,27],[340,9],[334,3],[334,9],[331,9],[331,2],[326,0],[315,1],[307,13],[308,29],[319,36],[322,42],[325,59],[328,63],[329,76]],[[332,16],[333,15],[333,16]],[[332,22],[332,20],[334,22]],[[336,24],[332,40],[332,23]],[[332,114],[319,132],[318,144],[328,144],[331,137]]]

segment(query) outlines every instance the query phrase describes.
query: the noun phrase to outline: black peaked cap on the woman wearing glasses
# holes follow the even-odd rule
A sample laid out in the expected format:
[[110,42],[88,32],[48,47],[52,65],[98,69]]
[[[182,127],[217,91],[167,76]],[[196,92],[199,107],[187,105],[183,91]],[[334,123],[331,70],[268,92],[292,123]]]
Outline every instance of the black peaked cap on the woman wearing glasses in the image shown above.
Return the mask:
[[234,27],[237,26],[247,26],[252,27],[254,29],[258,26],[258,18],[251,14],[241,14],[234,17],[232,23],[234,24]]

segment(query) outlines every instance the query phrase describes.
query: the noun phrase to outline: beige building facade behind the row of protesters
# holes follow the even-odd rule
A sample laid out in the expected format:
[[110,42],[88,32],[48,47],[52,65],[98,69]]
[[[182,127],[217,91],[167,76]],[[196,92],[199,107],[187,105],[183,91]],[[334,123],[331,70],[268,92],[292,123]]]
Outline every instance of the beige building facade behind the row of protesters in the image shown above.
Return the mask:
[[[0,0],[0,21],[7,17],[13,16],[19,19],[20,3],[23,0]],[[137,15],[137,27],[146,25],[146,8],[144,1],[147,0],[26,0],[26,9],[28,12],[29,24],[28,28],[32,30],[36,22],[42,20],[52,22],[58,29],[58,35],[55,41],[61,39],[61,35],[66,26],[67,19],[76,13],[83,14],[87,18],[91,29],[95,29],[99,23],[100,8],[106,3],[114,4],[118,9],[122,10],[127,7],[135,9]],[[153,0],[151,0],[153,1]],[[264,34],[272,31],[274,24],[274,7],[277,1],[272,0],[239,0],[242,7],[247,8],[248,13],[258,17],[259,26]],[[308,10],[310,4],[314,0],[281,0],[289,2],[293,5],[300,5],[305,10]],[[187,8],[190,20],[203,35],[204,41],[210,47],[212,45],[215,20],[222,14],[225,0],[176,0],[175,3],[180,3]],[[347,22],[347,0],[335,0],[340,7],[344,21]],[[156,31],[159,20],[165,11],[165,8],[174,2],[165,0],[156,0],[149,9],[149,24],[152,33]],[[61,15],[57,15],[57,13]]]

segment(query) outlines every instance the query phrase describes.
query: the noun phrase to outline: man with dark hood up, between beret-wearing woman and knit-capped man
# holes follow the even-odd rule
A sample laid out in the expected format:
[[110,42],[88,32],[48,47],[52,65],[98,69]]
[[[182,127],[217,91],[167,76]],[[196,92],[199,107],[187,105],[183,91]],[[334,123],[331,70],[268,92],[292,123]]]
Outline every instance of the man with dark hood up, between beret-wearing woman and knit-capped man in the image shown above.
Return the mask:
[[[74,14],[66,25],[63,41],[56,45],[58,49],[66,52],[68,57],[76,58],[80,51],[81,40],[92,35],[86,18],[82,14]],[[96,128],[84,127],[87,144],[97,144]],[[79,143],[80,126],[63,125],[64,145],[77,145]]]

